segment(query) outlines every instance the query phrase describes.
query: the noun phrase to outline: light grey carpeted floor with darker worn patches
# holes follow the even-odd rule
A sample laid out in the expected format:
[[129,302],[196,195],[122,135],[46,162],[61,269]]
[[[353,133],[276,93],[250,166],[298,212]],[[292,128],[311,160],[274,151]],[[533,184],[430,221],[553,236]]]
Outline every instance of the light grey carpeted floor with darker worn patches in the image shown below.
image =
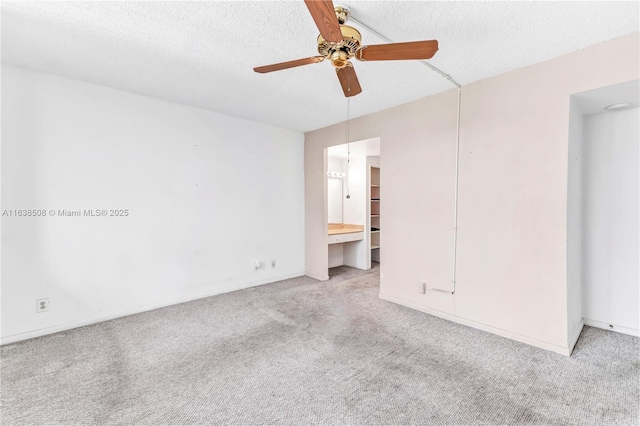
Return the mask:
[[637,425],[639,339],[572,357],[378,299],[336,268],[3,346],[2,425]]

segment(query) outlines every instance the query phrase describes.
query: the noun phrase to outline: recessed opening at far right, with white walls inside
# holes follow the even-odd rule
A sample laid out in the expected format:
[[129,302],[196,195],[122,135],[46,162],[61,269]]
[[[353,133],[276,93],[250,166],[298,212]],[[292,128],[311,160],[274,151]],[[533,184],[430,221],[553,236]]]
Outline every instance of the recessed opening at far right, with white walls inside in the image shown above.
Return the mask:
[[569,335],[582,324],[640,335],[640,82],[571,96]]

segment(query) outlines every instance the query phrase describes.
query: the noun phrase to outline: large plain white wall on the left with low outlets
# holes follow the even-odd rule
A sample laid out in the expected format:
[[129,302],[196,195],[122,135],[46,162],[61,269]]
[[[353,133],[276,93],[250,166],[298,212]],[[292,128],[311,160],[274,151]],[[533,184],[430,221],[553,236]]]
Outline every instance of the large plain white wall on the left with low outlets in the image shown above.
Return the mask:
[[303,135],[3,65],[2,209],[129,211],[2,217],[3,343],[298,276]]

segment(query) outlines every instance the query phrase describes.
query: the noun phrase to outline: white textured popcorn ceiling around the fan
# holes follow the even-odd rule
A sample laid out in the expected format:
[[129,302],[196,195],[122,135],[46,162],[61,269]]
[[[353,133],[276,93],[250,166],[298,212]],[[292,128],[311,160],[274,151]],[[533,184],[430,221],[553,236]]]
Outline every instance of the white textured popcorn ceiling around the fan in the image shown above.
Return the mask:
[[[639,27],[638,2],[334,4],[394,41],[437,39],[430,63],[462,85]],[[359,29],[363,44],[383,42]],[[316,55],[317,34],[301,0],[2,2],[4,63],[302,131],[347,116],[332,66],[252,68]],[[416,61],[354,64],[352,117],[453,87]]]

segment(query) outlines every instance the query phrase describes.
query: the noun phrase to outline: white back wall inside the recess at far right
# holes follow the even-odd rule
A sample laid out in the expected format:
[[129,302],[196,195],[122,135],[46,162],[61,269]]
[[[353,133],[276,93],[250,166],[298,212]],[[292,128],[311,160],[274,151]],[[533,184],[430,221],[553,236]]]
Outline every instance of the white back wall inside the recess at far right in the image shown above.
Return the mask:
[[585,323],[638,335],[640,109],[584,120],[582,277]]

